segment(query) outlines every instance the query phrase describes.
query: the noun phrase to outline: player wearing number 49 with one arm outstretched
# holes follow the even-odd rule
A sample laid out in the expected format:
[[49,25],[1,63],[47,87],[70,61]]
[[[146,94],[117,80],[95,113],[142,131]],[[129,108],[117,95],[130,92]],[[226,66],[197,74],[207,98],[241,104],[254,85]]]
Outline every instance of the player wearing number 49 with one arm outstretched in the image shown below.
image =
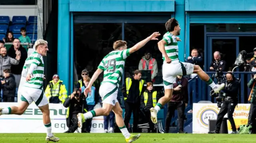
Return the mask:
[[91,92],[91,86],[93,82],[98,78],[100,73],[104,71],[104,78],[99,89],[103,103],[102,108],[92,110],[85,114],[78,114],[78,127],[82,128],[82,123],[86,119],[90,119],[95,116],[108,116],[110,111],[113,111],[116,116],[116,124],[124,135],[127,143],[131,143],[140,137],[140,134],[131,135],[124,125],[124,120],[122,118],[122,108],[120,107],[120,104],[117,100],[118,87],[124,71],[126,58],[130,54],[142,48],[146,43],[148,43],[148,41],[158,40],[156,37],[159,35],[160,34],[158,32],[154,32],[152,35],[140,41],[130,49],[127,49],[126,41],[119,40],[114,42],[114,51],[110,52],[102,59],[98,69],[94,72],[92,79],[84,90],[84,95],[87,95],[89,92]]

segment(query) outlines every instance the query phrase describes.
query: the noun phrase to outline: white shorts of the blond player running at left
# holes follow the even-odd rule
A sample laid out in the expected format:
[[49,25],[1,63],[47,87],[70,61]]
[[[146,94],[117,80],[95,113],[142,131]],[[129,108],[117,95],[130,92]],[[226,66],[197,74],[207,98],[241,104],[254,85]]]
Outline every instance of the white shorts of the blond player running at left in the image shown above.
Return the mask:
[[44,90],[26,86],[22,86],[20,100],[28,102],[28,104],[31,104],[34,101],[38,107],[48,104],[48,100],[44,95]]

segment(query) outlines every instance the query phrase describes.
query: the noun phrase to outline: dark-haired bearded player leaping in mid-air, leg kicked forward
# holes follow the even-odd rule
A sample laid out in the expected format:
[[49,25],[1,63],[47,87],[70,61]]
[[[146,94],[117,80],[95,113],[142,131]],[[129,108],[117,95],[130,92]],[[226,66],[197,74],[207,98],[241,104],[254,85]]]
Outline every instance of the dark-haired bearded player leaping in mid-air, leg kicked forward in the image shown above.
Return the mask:
[[177,75],[189,75],[192,73],[198,74],[198,76],[204,80],[215,93],[218,93],[225,84],[215,84],[212,79],[206,74],[198,65],[191,63],[183,63],[178,59],[178,43],[181,41],[177,35],[180,35],[180,25],[174,18],[168,20],[165,24],[167,33],[164,34],[163,39],[158,42],[158,48],[162,53],[164,59],[162,74],[164,82],[164,96],[158,100],[158,103],[154,108],[150,109],[151,120],[153,123],[157,123],[158,111],[170,101],[173,92],[173,84],[176,82]]

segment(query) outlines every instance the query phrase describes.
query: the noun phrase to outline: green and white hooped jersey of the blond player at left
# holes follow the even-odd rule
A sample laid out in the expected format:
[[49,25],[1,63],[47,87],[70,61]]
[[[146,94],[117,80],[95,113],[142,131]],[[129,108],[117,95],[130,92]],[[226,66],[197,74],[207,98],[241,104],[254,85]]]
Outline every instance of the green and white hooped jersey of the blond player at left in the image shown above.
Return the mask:
[[[28,69],[32,64],[35,64],[37,67],[32,72],[32,78],[30,78],[30,81],[26,81],[24,86],[31,87],[31,88],[37,88],[42,89],[43,87],[43,80],[44,80],[44,61],[42,55],[34,51],[25,61],[25,64],[23,66],[22,73],[28,73]],[[26,75],[22,74],[22,75]]]

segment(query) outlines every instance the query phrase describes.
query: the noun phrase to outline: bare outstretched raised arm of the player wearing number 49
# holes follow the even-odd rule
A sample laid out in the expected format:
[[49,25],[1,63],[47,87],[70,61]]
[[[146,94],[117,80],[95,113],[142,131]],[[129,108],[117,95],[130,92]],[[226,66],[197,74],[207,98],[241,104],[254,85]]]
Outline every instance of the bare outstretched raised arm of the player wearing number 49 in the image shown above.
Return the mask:
[[135,51],[138,51],[140,48],[142,48],[146,43],[148,43],[148,41],[150,40],[158,40],[158,36],[160,36],[161,34],[159,32],[154,32],[152,35],[148,36],[146,39],[140,41],[139,43],[137,43],[136,45],[134,45],[133,47],[130,48],[129,53],[134,53]]

